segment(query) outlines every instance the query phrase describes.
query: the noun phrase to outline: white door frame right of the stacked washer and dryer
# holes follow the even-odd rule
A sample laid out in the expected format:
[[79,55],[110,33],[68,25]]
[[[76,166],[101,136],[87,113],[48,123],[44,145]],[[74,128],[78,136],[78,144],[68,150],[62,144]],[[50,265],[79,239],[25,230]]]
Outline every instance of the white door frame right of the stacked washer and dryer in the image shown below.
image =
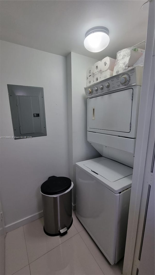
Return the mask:
[[[151,67],[154,62],[154,2],[149,2],[148,28],[146,36],[145,61],[141,86],[141,99],[137,128],[135,161],[133,166],[132,189],[129,207],[127,238],[124,255],[123,275],[131,275],[137,238],[138,218],[143,188],[146,153],[149,139],[149,127],[153,105],[154,87],[150,81]],[[147,197],[145,199],[145,202]],[[135,275],[135,274],[134,274]]]

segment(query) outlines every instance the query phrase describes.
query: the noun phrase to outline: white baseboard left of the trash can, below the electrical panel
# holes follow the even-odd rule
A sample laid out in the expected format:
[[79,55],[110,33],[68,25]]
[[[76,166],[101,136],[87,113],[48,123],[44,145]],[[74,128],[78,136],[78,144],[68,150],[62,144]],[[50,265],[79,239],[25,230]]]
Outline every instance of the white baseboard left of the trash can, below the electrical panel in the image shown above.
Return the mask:
[[14,229],[16,229],[16,228],[18,228],[20,226],[23,226],[23,225],[25,225],[25,224],[27,224],[29,222],[33,222],[33,221],[41,218],[42,216],[43,216],[43,211],[40,211],[38,213],[35,213],[35,214],[31,215],[31,216],[28,216],[28,217],[22,219],[22,220],[19,220],[17,222],[13,222],[12,224],[8,224],[5,227],[6,233],[9,232],[9,231],[11,231],[11,230],[14,230]]

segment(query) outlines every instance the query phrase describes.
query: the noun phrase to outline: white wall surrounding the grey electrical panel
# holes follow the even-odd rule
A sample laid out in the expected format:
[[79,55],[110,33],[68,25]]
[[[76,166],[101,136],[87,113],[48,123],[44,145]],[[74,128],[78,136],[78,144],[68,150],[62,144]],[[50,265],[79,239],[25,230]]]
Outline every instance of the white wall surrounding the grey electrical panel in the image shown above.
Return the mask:
[[69,176],[66,58],[1,41],[1,136],[14,135],[7,84],[44,88],[47,136],[1,139],[6,226],[42,211],[40,186],[49,176]]

